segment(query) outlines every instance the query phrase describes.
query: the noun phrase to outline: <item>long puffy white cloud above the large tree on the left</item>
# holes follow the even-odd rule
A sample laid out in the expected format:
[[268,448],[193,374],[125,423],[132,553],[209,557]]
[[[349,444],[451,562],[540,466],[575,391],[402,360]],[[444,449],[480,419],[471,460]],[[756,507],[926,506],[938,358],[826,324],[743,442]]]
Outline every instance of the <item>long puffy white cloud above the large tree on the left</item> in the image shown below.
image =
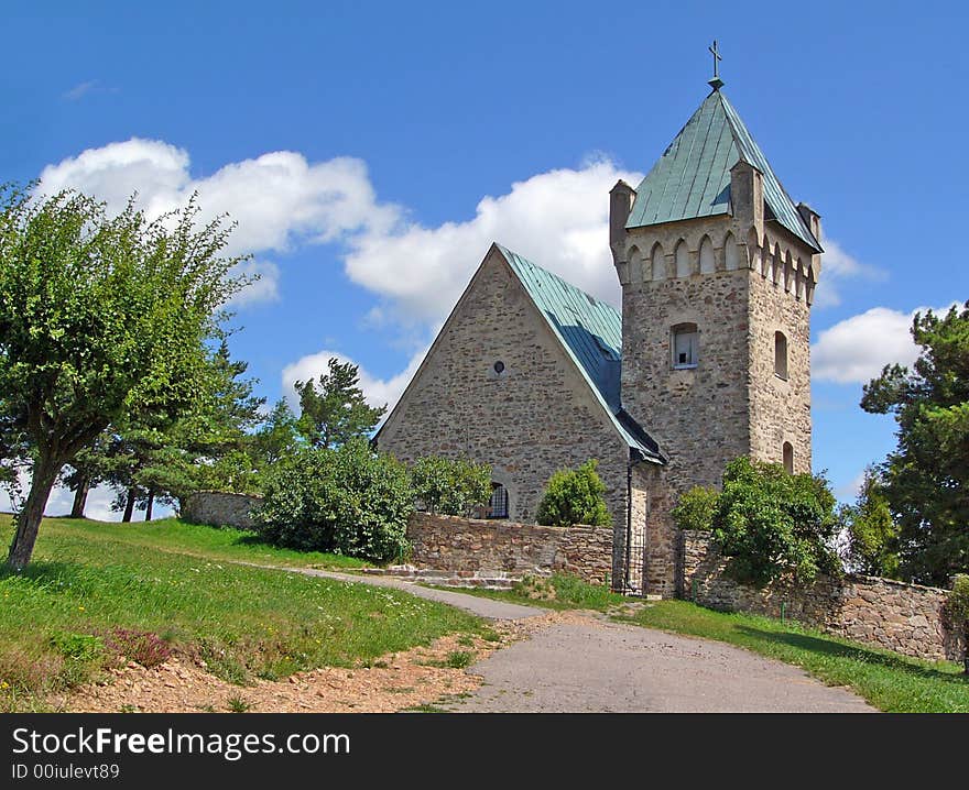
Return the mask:
[[[351,233],[383,234],[399,222],[401,210],[379,204],[357,158],[309,163],[298,153],[276,151],[226,165],[210,176],[193,178],[184,149],[159,140],[132,138],[50,165],[39,190],[75,188],[120,211],[131,195],[151,217],[185,206],[198,193],[203,221],[228,213],[237,222],[226,248],[229,254],[285,252],[304,243],[326,243]],[[274,264],[251,264],[263,281],[237,304],[277,296]],[[251,271],[251,270],[250,270]]]

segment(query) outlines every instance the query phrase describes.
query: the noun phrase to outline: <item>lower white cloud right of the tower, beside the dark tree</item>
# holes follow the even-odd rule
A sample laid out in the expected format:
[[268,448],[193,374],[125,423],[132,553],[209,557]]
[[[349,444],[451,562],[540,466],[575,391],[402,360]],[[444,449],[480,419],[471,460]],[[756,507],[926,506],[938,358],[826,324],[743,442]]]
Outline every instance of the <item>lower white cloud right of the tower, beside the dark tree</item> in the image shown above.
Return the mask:
[[[838,321],[824,330],[810,347],[812,375],[815,381],[836,384],[864,384],[881,374],[892,363],[911,365],[919,349],[912,340],[912,312],[873,307],[858,316]],[[945,312],[947,307],[935,309]]]

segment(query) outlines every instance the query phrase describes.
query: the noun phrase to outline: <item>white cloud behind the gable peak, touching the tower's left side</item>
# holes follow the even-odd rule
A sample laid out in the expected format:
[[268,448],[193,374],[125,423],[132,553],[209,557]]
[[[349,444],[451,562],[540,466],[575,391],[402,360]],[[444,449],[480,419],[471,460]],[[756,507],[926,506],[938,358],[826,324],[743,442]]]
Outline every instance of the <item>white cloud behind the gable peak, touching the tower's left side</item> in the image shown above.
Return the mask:
[[640,177],[608,161],[542,173],[513,184],[505,195],[482,198],[468,221],[398,224],[352,238],[347,274],[385,297],[396,318],[435,321],[450,311],[491,242],[499,241],[618,304],[608,195],[618,178],[636,183]]

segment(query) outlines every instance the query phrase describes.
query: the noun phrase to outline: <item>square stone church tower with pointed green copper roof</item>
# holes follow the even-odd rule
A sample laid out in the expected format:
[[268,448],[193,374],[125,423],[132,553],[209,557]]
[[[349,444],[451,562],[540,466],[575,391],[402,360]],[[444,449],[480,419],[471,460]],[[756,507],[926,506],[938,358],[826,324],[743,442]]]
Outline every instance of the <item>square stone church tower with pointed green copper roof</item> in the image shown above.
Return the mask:
[[719,80],[633,189],[610,193],[625,410],[671,493],[740,454],[810,471],[818,215],[794,205]]

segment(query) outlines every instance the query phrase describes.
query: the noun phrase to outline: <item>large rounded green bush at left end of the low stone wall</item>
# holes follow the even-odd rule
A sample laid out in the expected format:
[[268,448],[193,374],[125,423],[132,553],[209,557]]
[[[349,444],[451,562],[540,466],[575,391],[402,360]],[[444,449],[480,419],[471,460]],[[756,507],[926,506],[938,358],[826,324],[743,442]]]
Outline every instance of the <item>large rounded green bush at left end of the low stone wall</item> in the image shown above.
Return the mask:
[[406,549],[414,511],[410,473],[366,441],[304,449],[276,463],[264,485],[253,516],[271,544],[374,561]]

